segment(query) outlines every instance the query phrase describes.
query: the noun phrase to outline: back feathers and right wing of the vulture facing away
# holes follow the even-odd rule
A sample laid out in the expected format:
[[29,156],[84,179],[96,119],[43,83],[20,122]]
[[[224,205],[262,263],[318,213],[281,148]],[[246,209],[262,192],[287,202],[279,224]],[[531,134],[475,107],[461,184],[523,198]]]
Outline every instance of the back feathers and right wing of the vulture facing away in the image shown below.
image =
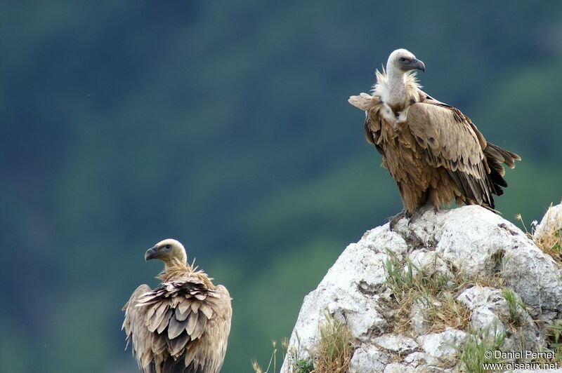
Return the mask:
[[[221,368],[232,315],[225,287],[210,289],[197,276],[185,276],[145,292],[135,307],[144,316],[136,327],[152,335],[152,351],[160,357],[155,364],[163,362],[163,372],[218,372]],[[202,343],[205,333],[213,338]],[[222,351],[222,358],[211,359],[217,351]]]

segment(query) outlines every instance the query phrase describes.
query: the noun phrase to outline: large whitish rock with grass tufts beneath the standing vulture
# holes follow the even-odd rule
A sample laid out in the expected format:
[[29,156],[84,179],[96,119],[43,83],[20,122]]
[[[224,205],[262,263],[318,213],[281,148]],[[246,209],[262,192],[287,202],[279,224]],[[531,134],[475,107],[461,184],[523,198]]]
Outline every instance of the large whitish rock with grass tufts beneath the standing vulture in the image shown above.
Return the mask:
[[[367,231],[346,247],[305,297],[282,372],[314,354],[326,313],[345,322],[355,339],[349,372],[453,372],[467,336],[483,331],[504,337],[504,351],[546,346],[544,325],[562,319],[560,264],[514,224],[479,206],[414,216],[392,230],[385,224]],[[444,307],[438,296],[400,299],[388,280],[391,260],[405,275],[422,271],[440,279],[466,320],[437,323],[429,310]],[[408,301],[406,313],[398,310]]]

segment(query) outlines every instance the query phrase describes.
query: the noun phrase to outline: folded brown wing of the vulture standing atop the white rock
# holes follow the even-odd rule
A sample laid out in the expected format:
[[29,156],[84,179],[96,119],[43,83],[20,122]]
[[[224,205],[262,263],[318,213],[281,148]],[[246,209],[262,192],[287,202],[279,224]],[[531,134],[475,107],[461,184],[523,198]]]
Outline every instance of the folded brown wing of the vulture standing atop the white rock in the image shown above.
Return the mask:
[[488,147],[486,140],[461,111],[431,97],[428,99],[427,103],[412,104],[407,113],[407,125],[424,150],[426,161],[447,170],[462,192],[464,202],[473,201],[493,209],[492,193],[501,193],[501,188],[496,189],[489,175],[484,154]]

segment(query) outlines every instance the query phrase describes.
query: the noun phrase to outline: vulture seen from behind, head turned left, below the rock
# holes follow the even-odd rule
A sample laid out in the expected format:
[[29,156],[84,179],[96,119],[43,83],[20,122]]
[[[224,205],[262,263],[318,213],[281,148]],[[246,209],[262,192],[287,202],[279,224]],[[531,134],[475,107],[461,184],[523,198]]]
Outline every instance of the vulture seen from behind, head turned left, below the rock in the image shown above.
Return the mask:
[[145,259],[160,259],[164,271],[155,289],[141,285],[123,306],[127,345],[145,373],[216,373],[221,370],[233,310],[223,285],[188,264],[183,245],[163,240]]

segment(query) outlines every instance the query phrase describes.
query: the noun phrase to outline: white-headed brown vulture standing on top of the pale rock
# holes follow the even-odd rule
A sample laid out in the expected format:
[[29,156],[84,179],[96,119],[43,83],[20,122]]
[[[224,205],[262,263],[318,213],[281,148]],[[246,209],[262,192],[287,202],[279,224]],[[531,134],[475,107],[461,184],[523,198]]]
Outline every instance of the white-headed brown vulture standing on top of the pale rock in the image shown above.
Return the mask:
[[349,97],[365,111],[365,137],[382,155],[381,166],[396,180],[405,214],[453,200],[494,210],[501,196],[505,163],[521,158],[486,142],[468,116],[424,93],[415,73],[424,62],[405,49],[393,51],[386,72],[377,70],[372,95]]

